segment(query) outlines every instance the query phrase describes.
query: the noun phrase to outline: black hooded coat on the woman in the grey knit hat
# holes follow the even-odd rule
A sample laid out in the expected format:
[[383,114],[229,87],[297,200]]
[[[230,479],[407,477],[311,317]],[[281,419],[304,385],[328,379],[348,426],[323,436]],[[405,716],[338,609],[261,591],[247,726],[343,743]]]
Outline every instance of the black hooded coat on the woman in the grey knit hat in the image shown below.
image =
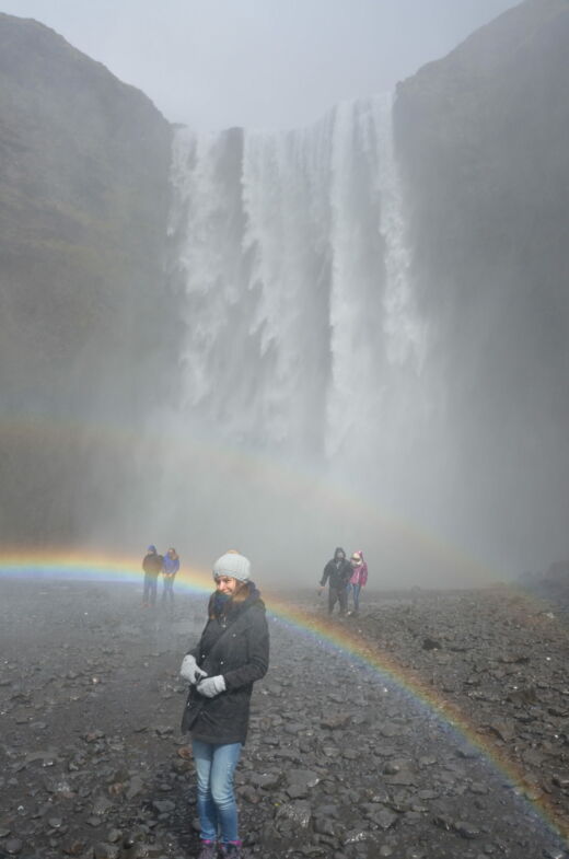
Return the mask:
[[249,582],[243,603],[229,600],[218,605],[218,594],[209,601],[209,620],[197,647],[188,651],[208,676],[225,681],[225,692],[214,698],[189,689],[182,730],[191,731],[205,743],[244,743],[247,736],[253,684],[269,664],[269,631],[265,604]]

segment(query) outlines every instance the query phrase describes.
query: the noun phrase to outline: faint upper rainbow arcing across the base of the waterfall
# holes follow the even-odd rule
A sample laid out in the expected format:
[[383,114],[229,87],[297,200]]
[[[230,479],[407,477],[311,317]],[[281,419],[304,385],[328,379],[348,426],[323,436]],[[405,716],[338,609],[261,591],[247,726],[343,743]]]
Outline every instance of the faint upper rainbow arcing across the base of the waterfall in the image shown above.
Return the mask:
[[[196,466],[208,472],[231,474],[246,478],[249,491],[266,491],[268,498],[278,487],[278,496],[288,499],[293,509],[299,499],[310,499],[310,509],[318,510],[318,519],[334,521],[335,514],[351,511],[358,522],[359,534],[378,534],[383,546],[386,569],[397,569],[402,546],[415,559],[414,566],[425,569],[427,561],[432,569],[449,574],[457,587],[495,583],[503,579],[502,572],[492,569],[475,557],[471,548],[454,545],[443,534],[427,530],[418,522],[403,518],[397,511],[382,507],[378,499],[360,489],[340,481],[338,477],[323,475],[309,463],[279,460],[277,455],[249,449],[231,446],[221,439],[200,434],[196,427],[169,425],[167,417],[159,429],[121,425],[111,419],[96,422],[78,421],[72,416],[54,417],[33,411],[0,419],[0,440],[5,445],[24,445],[31,450],[38,445],[56,445],[63,450],[84,448],[102,449],[109,456],[131,455],[136,448],[149,458],[159,455],[161,462],[172,457],[176,471],[196,472]],[[309,513],[307,513],[309,514]],[[184,547],[182,547],[184,548]],[[452,572],[452,576],[451,576]],[[440,580],[440,579],[439,579]]]

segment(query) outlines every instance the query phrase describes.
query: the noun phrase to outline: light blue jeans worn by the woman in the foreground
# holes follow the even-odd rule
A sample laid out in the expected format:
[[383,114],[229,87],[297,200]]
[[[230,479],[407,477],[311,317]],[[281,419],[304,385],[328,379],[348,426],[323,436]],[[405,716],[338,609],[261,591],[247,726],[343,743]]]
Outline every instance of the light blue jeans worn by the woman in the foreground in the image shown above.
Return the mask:
[[198,779],[198,814],[201,838],[214,841],[221,832],[223,844],[239,840],[237,804],[233,774],[241,755],[241,743],[191,741]]

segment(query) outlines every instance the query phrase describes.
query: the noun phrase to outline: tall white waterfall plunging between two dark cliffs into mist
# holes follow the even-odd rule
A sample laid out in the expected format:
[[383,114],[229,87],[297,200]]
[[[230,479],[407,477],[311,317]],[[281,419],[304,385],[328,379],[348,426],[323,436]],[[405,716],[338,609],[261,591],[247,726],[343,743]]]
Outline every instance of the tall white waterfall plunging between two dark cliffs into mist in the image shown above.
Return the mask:
[[221,529],[227,545],[258,546],[260,531],[269,566],[291,535],[310,555],[341,534],[397,578],[454,574],[454,556],[420,536],[468,536],[469,523],[437,333],[419,312],[391,97],[289,132],[182,129],[172,185],[174,421],[188,444],[164,462],[164,515],[212,541]]

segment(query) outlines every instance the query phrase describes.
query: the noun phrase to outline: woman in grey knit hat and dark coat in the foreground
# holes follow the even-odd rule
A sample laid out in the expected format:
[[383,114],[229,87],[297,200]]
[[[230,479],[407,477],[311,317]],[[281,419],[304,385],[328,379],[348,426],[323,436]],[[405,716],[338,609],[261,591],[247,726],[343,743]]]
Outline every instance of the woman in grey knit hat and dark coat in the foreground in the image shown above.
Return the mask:
[[190,684],[182,730],[191,732],[196,766],[198,859],[217,856],[218,838],[222,856],[241,857],[233,775],[247,736],[253,684],[269,662],[265,605],[249,574],[249,561],[236,552],[216,561],[208,622],[181,669]]

